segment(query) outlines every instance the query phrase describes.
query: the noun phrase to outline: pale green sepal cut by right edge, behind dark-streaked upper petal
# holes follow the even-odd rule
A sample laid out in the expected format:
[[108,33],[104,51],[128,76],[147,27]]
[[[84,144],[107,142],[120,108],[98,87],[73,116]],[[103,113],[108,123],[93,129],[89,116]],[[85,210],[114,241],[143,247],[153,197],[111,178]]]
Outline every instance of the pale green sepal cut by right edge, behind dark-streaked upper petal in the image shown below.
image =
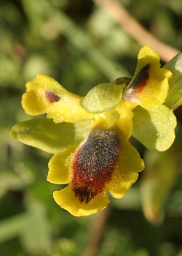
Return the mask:
[[164,105],[175,109],[182,105],[182,53],[176,55],[164,67],[173,73],[173,78],[169,80],[169,91]]

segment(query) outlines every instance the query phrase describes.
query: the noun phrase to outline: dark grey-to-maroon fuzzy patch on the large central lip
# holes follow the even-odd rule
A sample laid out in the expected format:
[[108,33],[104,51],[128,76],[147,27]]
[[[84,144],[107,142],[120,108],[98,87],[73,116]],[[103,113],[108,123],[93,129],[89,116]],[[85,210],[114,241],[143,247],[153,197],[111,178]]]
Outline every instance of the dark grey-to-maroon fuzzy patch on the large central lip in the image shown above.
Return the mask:
[[72,187],[80,202],[90,203],[93,197],[103,192],[111,181],[120,148],[117,127],[92,129],[73,162]]

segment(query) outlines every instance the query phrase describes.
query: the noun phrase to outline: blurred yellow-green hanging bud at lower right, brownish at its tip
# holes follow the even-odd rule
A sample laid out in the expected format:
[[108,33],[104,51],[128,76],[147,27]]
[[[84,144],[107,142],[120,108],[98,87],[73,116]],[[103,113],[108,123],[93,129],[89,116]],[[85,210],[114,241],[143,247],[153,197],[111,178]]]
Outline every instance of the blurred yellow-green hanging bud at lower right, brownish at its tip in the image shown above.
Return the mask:
[[141,180],[143,213],[150,222],[157,222],[178,176],[181,148],[174,145],[165,152],[147,151],[146,169]]

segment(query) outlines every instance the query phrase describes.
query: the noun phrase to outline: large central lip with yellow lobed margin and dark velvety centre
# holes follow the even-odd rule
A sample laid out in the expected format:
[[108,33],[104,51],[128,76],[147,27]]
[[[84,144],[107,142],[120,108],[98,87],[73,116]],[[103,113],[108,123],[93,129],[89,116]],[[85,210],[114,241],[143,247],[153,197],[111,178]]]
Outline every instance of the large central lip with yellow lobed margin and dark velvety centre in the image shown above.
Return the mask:
[[105,119],[96,119],[86,140],[77,148],[58,152],[49,163],[47,180],[69,184],[54,192],[55,201],[75,216],[108,206],[108,192],[123,197],[144,167],[128,141],[124,121],[119,119],[110,126]]

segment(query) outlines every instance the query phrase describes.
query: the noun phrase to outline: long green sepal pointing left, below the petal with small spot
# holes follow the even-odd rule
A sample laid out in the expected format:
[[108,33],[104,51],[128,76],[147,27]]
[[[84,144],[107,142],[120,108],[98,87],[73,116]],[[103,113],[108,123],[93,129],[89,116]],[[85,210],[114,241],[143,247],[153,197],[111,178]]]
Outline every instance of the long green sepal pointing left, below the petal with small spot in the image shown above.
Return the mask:
[[92,120],[55,124],[52,119],[33,118],[15,124],[10,135],[15,140],[51,154],[82,142],[90,132]]

